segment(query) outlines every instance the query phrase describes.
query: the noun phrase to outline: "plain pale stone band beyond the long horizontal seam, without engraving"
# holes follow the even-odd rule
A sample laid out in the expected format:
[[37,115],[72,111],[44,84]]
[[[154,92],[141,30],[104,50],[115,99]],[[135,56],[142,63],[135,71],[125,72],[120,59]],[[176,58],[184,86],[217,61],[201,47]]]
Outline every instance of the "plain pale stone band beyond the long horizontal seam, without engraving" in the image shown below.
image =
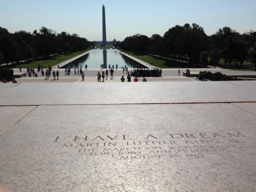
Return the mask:
[[256,101],[253,82],[0,84],[0,105],[80,105]]

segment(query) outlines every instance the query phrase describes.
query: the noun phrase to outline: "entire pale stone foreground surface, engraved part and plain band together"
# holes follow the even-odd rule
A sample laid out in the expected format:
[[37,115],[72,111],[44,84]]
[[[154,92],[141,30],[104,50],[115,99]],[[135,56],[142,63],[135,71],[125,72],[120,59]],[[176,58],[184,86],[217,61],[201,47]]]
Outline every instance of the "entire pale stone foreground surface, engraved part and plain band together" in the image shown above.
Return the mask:
[[254,191],[256,84],[0,84],[0,191]]

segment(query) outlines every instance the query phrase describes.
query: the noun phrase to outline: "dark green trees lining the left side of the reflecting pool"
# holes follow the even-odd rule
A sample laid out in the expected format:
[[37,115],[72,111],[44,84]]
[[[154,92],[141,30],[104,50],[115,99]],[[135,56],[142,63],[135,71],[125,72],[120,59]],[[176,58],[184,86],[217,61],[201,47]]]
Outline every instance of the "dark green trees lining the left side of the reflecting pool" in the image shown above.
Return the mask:
[[82,51],[90,46],[86,38],[66,32],[56,33],[41,27],[31,34],[27,31],[9,33],[0,27],[0,63],[45,58],[55,54]]

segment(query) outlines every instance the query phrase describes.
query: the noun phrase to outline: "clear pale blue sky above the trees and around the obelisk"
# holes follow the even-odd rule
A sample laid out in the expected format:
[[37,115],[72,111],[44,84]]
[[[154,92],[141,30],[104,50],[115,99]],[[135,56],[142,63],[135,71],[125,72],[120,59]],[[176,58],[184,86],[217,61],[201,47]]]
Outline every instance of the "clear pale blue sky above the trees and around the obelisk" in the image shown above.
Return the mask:
[[175,25],[197,23],[207,35],[228,26],[256,30],[256,0],[0,0],[0,27],[31,33],[41,27],[102,41],[102,5],[107,41],[142,34],[161,36]]

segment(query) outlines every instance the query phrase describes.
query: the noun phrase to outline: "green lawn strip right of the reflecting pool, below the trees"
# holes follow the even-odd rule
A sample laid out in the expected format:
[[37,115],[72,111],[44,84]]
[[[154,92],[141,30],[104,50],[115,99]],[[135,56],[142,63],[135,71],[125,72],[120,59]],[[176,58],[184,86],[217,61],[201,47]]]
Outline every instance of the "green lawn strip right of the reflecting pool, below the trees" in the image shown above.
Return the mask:
[[134,54],[132,51],[124,51],[122,49],[119,49],[119,50],[131,55],[132,57],[135,57],[137,59],[145,61],[147,63],[153,63],[154,66],[159,67],[159,68],[164,69],[164,68],[185,68],[185,67],[187,67],[186,64],[181,65],[180,63],[175,62],[175,61],[165,60],[165,59],[157,59],[157,58],[154,58],[147,54],[141,54],[141,55]]

